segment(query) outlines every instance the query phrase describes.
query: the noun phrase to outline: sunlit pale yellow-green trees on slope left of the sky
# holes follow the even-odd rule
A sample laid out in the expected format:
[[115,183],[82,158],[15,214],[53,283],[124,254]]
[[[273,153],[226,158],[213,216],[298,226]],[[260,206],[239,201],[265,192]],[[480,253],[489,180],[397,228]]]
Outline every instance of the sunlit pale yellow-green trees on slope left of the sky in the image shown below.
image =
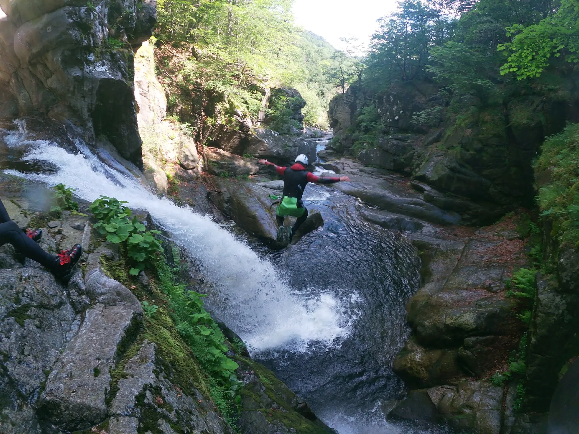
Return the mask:
[[295,26],[291,5],[290,0],[159,2],[156,57],[170,115],[194,128],[234,118],[253,124],[269,118],[276,124],[285,105],[269,104],[269,91],[293,87],[307,103],[304,122],[327,128],[336,50]]

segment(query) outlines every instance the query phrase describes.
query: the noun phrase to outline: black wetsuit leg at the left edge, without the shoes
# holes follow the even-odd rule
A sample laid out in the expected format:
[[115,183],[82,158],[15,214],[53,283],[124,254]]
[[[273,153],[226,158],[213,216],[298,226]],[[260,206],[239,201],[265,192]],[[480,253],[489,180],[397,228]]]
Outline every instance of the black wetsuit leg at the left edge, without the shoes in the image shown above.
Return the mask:
[[10,243],[21,255],[38,262],[50,271],[56,269],[56,257],[43,251],[16,223],[10,220],[2,201],[0,201],[0,219],[7,219],[6,222],[0,223],[0,245]]

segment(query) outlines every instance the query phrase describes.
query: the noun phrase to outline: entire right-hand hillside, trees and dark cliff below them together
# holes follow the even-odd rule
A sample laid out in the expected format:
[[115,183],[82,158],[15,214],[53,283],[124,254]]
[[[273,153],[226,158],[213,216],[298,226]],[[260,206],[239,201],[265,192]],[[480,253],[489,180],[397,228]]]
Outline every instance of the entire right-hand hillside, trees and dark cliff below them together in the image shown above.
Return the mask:
[[331,103],[334,148],[492,203],[481,222],[532,205],[541,142],[576,122],[577,17],[570,0],[401,2]]

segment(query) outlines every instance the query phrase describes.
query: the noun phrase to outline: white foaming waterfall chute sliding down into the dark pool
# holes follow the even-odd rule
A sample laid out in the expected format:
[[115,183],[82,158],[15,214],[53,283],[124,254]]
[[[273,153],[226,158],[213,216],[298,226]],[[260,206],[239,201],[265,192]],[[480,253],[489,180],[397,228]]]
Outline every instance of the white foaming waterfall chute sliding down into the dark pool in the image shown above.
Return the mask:
[[[129,207],[148,211],[172,241],[199,264],[211,290],[212,310],[247,343],[254,354],[275,351],[309,352],[314,347],[339,345],[351,332],[356,310],[348,297],[332,292],[304,299],[292,292],[267,260],[237,240],[227,230],[189,207],[178,207],[147,190],[122,165],[102,163],[88,146],[76,140],[74,155],[54,142],[28,141],[23,124],[10,131],[10,148],[26,148],[25,161],[41,160],[58,170],[41,174],[5,170],[5,173],[45,182],[64,183],[87,201],[116,197]],[[112,160],[112,159],[111,159]],[[319,294],[319,292],[318,292]],[[346,301],[344,301],[346,300]]]

